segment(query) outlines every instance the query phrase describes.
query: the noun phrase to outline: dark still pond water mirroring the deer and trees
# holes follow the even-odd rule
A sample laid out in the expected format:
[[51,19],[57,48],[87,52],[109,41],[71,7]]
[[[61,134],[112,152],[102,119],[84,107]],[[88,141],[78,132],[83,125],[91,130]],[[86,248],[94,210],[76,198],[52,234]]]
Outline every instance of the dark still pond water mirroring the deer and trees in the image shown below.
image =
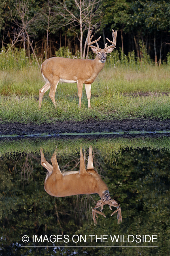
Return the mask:
[[169,137],[2,140],[0,157],[0,255],[169,255]]

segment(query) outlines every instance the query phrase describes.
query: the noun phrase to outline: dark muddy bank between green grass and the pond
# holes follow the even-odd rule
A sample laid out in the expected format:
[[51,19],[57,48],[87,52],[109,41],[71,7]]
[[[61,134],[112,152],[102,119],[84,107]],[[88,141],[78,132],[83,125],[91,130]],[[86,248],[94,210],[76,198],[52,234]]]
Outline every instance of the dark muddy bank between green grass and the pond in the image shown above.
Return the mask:
[[[170,119],[163,121],[157,119],[124,119],[122,121],[107,120],[107,121],[97,121],[94,119],[86,121],[63,121],[56,123],[43,123],[41,125],[36,125],[33,123],[6,123],[0,124],[0,137],[3,135],[18,135],[24,137],[25,135],[61,135],[62,133],[94,133],[94,132],[120,132],[123,131],[123,137],[127,137],[128,133],[131,131],[168,131],[170,130]],[[84,134],[85,135],[85,134]],[[163,134],[162,134],[163,135]],[[9,137],[10,137],[9,136]],[[72,135],[73,136],[73,135]],[[88,135],[87,137],[89,137]],[[107,135],[106,135],[107,136]],[[122,136],[122,135],[118,135]],[[155,134],[150,134],[149,137],[153,137]],[[169,135],[166,135],[169,136]],[[78,135],[78,137],[84,137],[83,135]],[[91,136],[90,136],[91,137]],[[94,136],[93,136],[94,137]],[[97,136],[98,137],[98,136]],[[114,136],[115,137],[115,136]],[[131,135],[130,135],[131,137]],[[133,135],[134,137],[134,135]]]

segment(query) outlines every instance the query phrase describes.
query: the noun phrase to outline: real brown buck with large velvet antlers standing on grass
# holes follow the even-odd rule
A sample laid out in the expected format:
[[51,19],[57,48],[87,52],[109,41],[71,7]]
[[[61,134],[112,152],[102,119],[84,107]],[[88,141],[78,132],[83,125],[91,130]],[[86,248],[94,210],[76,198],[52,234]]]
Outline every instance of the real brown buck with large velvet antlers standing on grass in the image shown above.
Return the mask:
[[[112,44],[105,49],[99,48],[98,41],[101,36],[91,42],[93,35],[92,30],[88,31],[87,44],[92,51],[96,53],[95,59],[69,59],[63,57],[52,57],[46,59],[41,65],[42,77],[45,85],[39,90],[39,108],[41,108],[42,97],[44,93],[50,89],[49,97],[56,108],[55,92],[59,82],[77,83],[78,89],[78,107],[81,108],[82,88],[85,84],[86,95],[88,100],[88,108],[90,108],[91,84],[96,79],[99,72],[103,69],[106,61],[107,53],[111,53],[116,48],[117,31],[112,30],[113,40],[107,40]],[[97,46],[92,44],[96,43]]]

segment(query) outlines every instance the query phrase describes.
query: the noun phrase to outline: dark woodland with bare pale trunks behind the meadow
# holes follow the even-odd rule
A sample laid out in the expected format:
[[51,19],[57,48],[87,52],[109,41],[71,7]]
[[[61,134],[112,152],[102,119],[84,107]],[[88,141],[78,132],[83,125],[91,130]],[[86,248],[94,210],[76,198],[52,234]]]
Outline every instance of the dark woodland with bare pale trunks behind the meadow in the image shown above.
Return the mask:
[[170,48],[170,2],[168,0],[0,0],[0,48],[23,48],[35,59],[56,56],[62,48],[72,55],[92,58],[88,53],[87,33],[94,39],[112,39],[117,30],[117,45],[125,55],[134,51],[143,58],[145,47],[156,65],[167,61]]

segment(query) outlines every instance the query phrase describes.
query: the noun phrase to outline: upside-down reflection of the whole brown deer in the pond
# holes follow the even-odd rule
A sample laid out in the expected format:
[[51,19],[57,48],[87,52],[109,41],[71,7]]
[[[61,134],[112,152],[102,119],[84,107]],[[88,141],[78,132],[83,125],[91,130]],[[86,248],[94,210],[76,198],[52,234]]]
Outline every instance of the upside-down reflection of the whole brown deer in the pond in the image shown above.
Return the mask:
[[97,217],[97,213],[105,216],[103,212],[99,212],[96,210],[96,208],[101,207],[100,211],[102,211],[103,205],[107,204],[110,206],[111,210],[112,206],[117,208],[112,215],[115,212],[118,212],[118,223],[122,221],[120,205],[118,205],[114,199],[111,199],[107,185],[104,181],[102,181],[100,175],[94,170],[91,147],[89,148],[87,170],[84,164],[82,148],[80,149],[79,172],[67,171],[61,173],[56,159],[56,151],[51,158],[51,162],[52,165],[45,160],[43,151],[41,150],[41,165],[48,170],[46,179],[44,181],[44,189],[49,195],[55,197],[65,197],[69,195],[97,193],[101,197],[101,200],[99,200],[92,209],[94,223],[97,223],[95,218]]

